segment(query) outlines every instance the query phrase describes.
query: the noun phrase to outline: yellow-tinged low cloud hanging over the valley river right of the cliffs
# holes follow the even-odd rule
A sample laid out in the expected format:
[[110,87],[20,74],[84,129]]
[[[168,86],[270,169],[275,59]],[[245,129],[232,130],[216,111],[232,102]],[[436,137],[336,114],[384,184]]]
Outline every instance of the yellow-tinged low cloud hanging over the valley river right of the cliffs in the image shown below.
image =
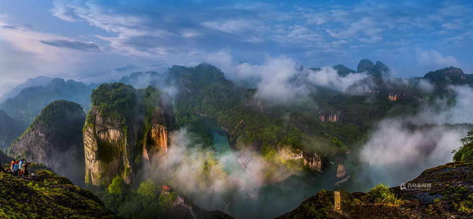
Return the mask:
[[[246,172],[229,147],[220,148],[215,154],[213,148],[193,145],[193,138],[186,128],[169,133],[167,156],[151,160],[151,166],[157,167],[153,176],[158,181],[164,180],[194,203],[199,203],[199,207],[208,210],[224,211],[230,202],[235,204],[242,199],[253,200],[263,195],[260,194],[263,192],[261,188],[268,184],[260,177],[265,167],[260,154],[243,157],[246,159],[242,161],[246,163]],[[281,176],[279,180],[284,180],[291,173],[280,170],[276,175]]]

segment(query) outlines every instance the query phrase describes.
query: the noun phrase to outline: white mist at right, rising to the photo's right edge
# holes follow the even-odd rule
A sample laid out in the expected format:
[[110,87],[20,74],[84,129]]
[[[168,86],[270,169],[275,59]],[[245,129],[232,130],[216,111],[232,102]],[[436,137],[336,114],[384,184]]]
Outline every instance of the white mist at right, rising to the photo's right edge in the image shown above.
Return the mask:
[[452,162],[452,150],[461,146],[460,139],[473,128],[466,124],[473,118],[473,88],[449,89],[455,94],[453,104],[436,98],[414,115],[385,118],[375,126],[361,146],[360,182],[397,186],[428,168]]

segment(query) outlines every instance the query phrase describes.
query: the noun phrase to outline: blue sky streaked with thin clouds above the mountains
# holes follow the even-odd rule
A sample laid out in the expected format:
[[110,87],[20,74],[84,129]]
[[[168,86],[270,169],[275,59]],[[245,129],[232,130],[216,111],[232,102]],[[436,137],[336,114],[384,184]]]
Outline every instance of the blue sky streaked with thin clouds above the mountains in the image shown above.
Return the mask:
[[40,75],[105,82],[202,62],[473,73],[472,12],[469,1],[0,0],[0,94]]

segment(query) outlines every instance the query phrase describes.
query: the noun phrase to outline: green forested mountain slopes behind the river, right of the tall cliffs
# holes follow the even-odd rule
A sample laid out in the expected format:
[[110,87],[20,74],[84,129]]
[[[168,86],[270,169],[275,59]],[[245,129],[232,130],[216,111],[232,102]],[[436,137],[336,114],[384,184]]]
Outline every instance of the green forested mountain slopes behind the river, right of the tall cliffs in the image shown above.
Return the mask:
[[[304,169],[304,160],[308,168],[323,172],[331,156],[347,153],[349,145],[362,143],[376,121],[415,113],[421,102],[428,102],[433,95],[416,88],[417,80],[406,84],[383,77],[388,69],[381,62],[374,65],[362,60],[358,71],[341,65],[335,68],[339,75],[368,72],[369,77],[357,82],[368,84],[368,89],[349,93],[318,86],[304,101],[274,104],[256,97],[257,89],[235,84],[209,64],[173,66],[165,75],[168,83],[178,88],[178,123],[198,121],[198,114],[216,119],[228,131],[236,156],[261,154],[266,165],[259,174],[273,182],[281,177],[277,169],[299,172]],[[297,159],[301,157],[304,159]]]

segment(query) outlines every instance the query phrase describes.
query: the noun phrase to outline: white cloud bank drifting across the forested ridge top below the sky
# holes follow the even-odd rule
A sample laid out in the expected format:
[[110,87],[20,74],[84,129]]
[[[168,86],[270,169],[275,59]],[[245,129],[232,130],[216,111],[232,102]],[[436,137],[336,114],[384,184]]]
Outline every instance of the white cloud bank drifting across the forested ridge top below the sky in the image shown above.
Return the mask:
[[368,77],[366,73],[349,73],[341,77],[332,67],[323,67],[319,70],[302,69],[298,62],[285,56],[267,56],[261,65],[247,62],[238,64],[228,51],[219,51],[209,55],[207,61],[222,69],[227,78],[256,80],[255,97],[277,104],[305,98],[316,90],[316,86],[343,92],[356,81]]

